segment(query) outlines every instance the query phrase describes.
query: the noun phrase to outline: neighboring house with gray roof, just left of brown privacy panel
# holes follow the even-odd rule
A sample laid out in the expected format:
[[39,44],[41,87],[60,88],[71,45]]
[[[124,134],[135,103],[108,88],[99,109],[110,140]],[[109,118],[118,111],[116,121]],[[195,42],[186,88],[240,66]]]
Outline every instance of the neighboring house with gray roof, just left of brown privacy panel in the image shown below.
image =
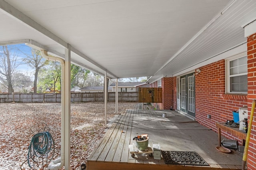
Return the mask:
[[[110,84],[112,92],[116,91],[116,83]],[[137,92],[139,87],[149,87],[145,82],[118,82],[118,92]]]

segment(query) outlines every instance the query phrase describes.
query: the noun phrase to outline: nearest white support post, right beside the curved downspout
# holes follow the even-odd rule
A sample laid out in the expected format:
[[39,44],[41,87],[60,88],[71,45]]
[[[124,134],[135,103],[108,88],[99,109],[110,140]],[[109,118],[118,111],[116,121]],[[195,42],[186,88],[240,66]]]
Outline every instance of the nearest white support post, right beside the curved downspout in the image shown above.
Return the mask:
[[65,49],[65,170],[70,170],[70,44]]

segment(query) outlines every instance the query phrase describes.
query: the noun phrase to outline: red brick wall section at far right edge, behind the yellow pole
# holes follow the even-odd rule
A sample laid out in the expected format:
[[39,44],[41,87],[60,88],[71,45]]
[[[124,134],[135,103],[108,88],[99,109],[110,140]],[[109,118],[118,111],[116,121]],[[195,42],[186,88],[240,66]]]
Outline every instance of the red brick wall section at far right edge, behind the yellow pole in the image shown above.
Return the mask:
[[[252,110],[252,100],[256,99],[256,33],[247,38],[248,55],[248,118]],[[256,113],[254,111],[250,145],[248,148],[247,166],[250,170],[256,169]]]

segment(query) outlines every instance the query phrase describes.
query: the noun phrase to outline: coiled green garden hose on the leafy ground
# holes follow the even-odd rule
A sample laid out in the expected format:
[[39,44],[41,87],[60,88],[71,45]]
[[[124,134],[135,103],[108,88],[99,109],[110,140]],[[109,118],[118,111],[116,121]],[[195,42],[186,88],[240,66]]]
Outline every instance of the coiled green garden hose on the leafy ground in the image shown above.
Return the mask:
[[[30,159],[32,159],[33,162],[37,162],[35,159],[37,157],[43,159],[46,158],[46,164],[48,164],[48,162],[50,162],[54,156],[54,145],[54,140],[49,132],[40,132],[34,135],[28,147],[28,159],[26,160],[28,161],[28,166],[32,168]],[[52,153],[50,153],[51,151]],[[48,159],[49,154],[51,156],[50,159]]]

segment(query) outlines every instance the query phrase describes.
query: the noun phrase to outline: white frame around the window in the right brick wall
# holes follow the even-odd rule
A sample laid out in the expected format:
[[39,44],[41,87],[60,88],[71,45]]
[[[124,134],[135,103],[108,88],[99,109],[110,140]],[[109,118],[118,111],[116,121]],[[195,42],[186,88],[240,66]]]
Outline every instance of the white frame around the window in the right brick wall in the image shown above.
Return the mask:
[[[236,55],[234,57],[230,57],[228,59],[225,60],[225,72],[226,72],[226,78],[225,78],[225,86],[226,86],[226,93],[230,93],[230,94],[247,94],[247,92],[231,92],[230,89],[230,61],[242,58],[242,57],[247,57],[247,53],[241,53],[239,55]],[[242,75],[247,75],[248,72],[246,73],[242,73],[242,74],[237,74],[237,76],[242,76]]]

